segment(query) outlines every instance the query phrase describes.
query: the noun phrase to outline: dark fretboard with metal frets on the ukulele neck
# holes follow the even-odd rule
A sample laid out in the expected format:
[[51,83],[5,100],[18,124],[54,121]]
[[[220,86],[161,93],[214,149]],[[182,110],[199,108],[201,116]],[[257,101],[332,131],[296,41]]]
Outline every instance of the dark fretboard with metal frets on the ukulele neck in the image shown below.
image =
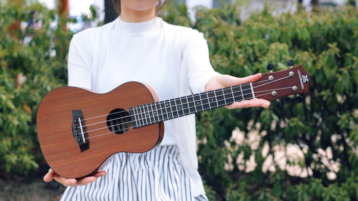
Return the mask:
[[160,123],[254,98],[252,84],[237,85],[129,109],[133,128]]

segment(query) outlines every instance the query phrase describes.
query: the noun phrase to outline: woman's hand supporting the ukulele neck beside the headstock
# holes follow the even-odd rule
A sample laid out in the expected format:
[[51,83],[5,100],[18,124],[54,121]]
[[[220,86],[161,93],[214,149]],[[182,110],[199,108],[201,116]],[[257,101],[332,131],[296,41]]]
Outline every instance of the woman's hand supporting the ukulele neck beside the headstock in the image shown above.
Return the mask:
[[[261,78],[261,73],[256,75],[251,75],[248,77],[237,78],[230,75],[217,75],[211,78],[205,86],[205,91],[209,92],[212,90],[217,90],[218,88],[225,88],[229,86],[236,86],[239,84],[247,84],[250,82],[255,82]],[[235,102],[231,105],[225,106],[228,109],[243,108],[243,107],[264,107],[267,108],[270,106],[270,101],[253,98],[250,100],[243,100],[240,102]]]

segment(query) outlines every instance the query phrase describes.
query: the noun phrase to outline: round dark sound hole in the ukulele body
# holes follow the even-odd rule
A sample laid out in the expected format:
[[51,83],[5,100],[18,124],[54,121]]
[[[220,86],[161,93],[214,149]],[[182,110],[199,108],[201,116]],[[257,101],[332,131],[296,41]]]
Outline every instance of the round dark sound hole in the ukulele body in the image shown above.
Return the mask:
[[128,111],[124,109],[114,109],[107,116],[107,126],[110,131],[116,134],[123,134],[132,126]]

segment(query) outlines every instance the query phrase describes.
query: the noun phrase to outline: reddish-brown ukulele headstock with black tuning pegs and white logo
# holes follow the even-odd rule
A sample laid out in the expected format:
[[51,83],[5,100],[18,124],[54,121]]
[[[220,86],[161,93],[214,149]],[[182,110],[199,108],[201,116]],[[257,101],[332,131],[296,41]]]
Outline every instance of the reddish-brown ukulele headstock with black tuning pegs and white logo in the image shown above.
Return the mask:
[[[293,61],[289,60],[287,64],[293,65]],[[273,69],[271,65],[270,71]],[[287,70],[264,73],[259,80],[252,84],[256,98],[278,101],[279,98],[289,95],[308,94],[309,83],[309,74],[303,65],[299,64]],[[302,102],[302,100],[301,96],[296,97],[296,102]],[[280,104],[279,101],[276,102],[278,107]]]

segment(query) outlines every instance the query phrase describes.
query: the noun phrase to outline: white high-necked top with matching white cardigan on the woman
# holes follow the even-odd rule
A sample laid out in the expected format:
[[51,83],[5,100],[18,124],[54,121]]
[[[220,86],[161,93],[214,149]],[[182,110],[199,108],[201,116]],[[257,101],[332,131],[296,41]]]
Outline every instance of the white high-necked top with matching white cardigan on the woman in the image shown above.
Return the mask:
[[[112,23],[75,34],[70,44],[69,85],[106,93],[122,83],[149,84],[160,101],[204,92],[216,73],[207,42],[196,30],[161,18]],[[195,116],[165,122],[161,146],[177,145],[195,196],[204,194],[197,172]]]

